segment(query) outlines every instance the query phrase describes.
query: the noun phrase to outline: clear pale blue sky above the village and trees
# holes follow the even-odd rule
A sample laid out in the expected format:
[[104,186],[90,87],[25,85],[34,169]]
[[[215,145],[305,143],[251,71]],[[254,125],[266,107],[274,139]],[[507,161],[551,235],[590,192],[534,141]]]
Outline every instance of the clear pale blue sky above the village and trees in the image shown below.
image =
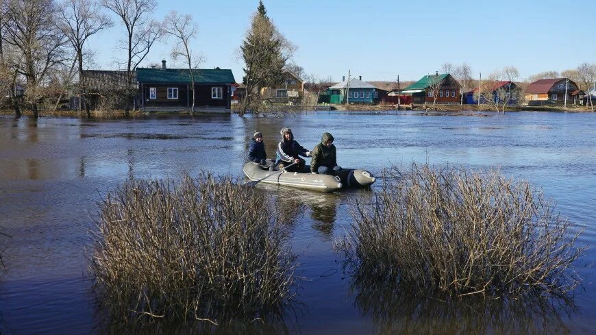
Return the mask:
[[[295,62],[308,74],[340,80],[350,69],[363,80],[419,79],[444,62],[471,65],[477,73],[517,66],[521,78],[596,62],[593,40],[596,3],[578,1],[354,1],[264,0],[278,29],[299,48]],[[190,14],[199,24],[193,49],[201,67],[232,69],[258,0],[159,1],[154,18],[171,10]],[[115,69],[125,53],[114,48],[123,26],[90,41],[100,69]],[[586,38],[584,36],[591,36]],[[168,61],[173,39],[160,42],[142,65]]]

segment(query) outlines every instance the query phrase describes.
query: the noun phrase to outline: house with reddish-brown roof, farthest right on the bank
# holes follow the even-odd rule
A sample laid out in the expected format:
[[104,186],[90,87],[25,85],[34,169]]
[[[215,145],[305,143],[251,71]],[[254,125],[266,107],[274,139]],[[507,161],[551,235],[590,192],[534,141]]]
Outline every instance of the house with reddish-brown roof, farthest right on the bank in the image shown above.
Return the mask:
[[527,86],[525,100],[530,106],[563,105],[566,93],[568,104],[580,104],[585,95],[573,80],[552,78],[536,80]]

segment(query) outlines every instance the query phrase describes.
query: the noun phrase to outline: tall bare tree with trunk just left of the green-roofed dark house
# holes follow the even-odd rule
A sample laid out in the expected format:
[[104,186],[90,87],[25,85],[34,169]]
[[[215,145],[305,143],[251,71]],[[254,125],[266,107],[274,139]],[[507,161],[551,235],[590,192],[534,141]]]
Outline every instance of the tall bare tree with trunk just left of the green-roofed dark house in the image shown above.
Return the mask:
[[127,52],[124,116],[128,117],[132,97],[132,74],[162,34],[160,23],[149,16],[157,6],[156,0],[102,0],[103,6],[121,18],[126,38],[120,40],[119,48]]

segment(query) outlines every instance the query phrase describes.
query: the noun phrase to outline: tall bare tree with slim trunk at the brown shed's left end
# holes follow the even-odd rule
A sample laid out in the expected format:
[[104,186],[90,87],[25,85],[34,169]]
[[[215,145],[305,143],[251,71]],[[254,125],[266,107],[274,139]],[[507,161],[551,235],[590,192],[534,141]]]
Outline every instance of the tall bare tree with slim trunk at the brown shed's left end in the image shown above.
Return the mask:
[[112,21],[101,12],[99,3],[94,0],[64,0],[58,8],[57,24],[64,36],[68,38],[75,53],[79,74],[79,96],[84,101],[87,118],[90,119],[86,78],[83,71],[85,43],[91,36],[111,27]]

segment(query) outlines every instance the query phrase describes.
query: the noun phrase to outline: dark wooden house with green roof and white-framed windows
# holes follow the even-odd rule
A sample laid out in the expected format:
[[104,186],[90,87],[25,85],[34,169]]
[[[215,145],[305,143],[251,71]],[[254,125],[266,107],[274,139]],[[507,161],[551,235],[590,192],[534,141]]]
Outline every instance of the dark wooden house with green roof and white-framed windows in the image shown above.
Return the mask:
[[[229,112],[232,84],[236,82],[232,70],[195,69],[195,107],[210,112]],[[137,68],[136,81],[140,91],[142,110],[173,110],[190,108],[193,92],[190,86],[190,70],[161,68]]]

